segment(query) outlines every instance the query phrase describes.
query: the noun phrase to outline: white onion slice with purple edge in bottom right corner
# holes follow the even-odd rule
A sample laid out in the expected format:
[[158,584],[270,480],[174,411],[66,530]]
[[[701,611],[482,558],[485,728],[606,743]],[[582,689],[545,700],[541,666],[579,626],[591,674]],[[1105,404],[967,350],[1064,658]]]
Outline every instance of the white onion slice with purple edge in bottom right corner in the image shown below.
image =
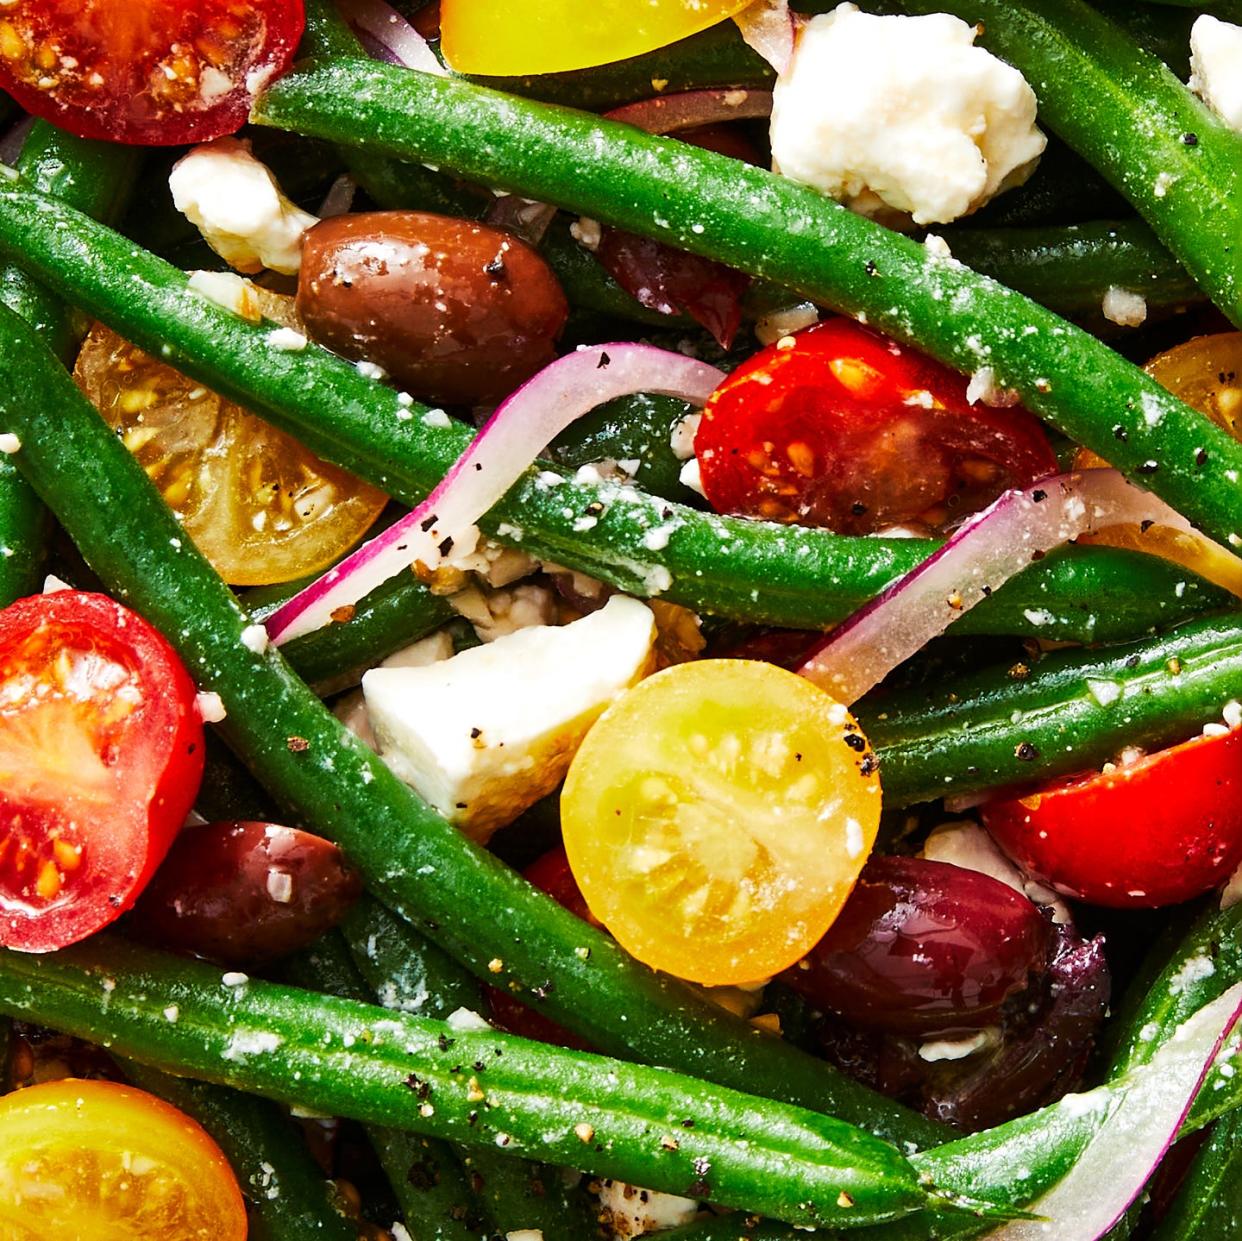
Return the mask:
[[[1225,1040],[1242,1016],[1242,983],[1205,1004],[1141,1068],[1098,1092],[1107,1117],[1078,1161],[1030,1211],[990,1232],[995,1241],[1099,1241],[1143,1193],[1172,1145]],[[1062,1101],[1061,1107],[1067,1101]]]

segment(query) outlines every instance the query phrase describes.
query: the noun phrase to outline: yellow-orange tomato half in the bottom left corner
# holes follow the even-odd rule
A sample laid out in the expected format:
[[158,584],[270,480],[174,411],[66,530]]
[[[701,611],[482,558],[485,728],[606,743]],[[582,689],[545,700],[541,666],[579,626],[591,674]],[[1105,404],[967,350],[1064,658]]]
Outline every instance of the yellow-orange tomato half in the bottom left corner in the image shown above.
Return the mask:
[[144,1091],[66,1078],[0,1098],[0,1236],[245,1241],[237,1178]]

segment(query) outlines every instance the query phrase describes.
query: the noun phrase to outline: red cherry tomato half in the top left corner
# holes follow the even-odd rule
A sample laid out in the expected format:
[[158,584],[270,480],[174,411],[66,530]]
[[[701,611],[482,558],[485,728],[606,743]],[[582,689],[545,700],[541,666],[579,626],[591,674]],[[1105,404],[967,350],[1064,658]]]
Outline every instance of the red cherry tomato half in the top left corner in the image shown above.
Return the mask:
[[206,142],[246,123],[304,25],[302,0],[6,0],[0,86],[82,138]]

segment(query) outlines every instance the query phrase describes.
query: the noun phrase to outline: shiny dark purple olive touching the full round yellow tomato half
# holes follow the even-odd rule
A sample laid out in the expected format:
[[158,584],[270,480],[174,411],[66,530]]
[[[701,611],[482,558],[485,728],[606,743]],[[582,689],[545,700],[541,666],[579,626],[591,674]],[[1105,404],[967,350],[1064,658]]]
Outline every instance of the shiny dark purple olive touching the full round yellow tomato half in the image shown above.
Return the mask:
[[976,1029],[1043,973],[1051,943],[1040,911],[990,876],[873,857],[827,934],[784,978],[859,1026]]

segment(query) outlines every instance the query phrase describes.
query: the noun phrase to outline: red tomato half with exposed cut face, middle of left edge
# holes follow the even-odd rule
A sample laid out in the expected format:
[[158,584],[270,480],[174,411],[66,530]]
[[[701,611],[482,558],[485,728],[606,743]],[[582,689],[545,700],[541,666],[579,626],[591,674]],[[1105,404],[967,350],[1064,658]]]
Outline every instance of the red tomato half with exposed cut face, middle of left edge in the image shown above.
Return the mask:
[[134,903],[202,778],[194,682],[104,595],[0,611],[0,944],[50,952]]

